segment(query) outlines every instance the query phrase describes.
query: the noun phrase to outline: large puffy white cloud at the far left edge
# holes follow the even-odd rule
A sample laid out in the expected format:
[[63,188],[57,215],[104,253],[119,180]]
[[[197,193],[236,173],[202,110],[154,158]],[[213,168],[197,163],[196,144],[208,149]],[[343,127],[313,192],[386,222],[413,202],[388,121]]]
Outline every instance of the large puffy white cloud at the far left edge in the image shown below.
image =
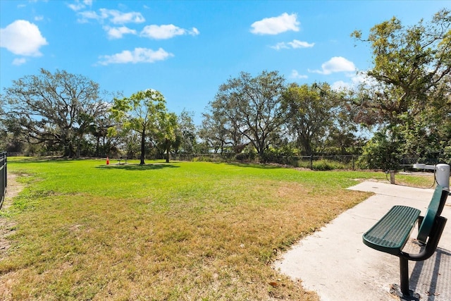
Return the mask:
[[0,47],[22,56],[41,56],[39,48],[47,45],[39,28],[26,20],[16,20],[0,29]]

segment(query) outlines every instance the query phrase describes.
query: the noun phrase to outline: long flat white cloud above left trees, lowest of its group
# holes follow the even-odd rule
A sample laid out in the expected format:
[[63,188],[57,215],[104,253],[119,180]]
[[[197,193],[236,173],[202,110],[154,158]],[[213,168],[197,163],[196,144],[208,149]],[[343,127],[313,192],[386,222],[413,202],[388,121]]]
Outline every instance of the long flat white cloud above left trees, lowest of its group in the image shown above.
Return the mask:
[[111,56],[100,56],[99,63],[101,65],[109,65],[110,63],[154,63],[156,61],[164,61],[171,56],[171,53],[166,52],[160,48],[157,51],[147,48],[135,48],[135,50],[124,50],[119,54]]

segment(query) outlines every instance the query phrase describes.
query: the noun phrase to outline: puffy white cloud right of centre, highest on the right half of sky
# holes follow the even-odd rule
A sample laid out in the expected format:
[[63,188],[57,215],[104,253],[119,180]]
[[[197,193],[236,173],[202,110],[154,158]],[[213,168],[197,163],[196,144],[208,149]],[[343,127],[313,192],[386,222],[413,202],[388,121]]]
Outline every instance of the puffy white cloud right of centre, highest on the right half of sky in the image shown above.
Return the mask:
[[297,15],[292,13],[283,13],[278,17],[264,18],[252,23],[251,32],[256,35],[278,35],[288,30],[299,31],[300,23],[297,21]]

